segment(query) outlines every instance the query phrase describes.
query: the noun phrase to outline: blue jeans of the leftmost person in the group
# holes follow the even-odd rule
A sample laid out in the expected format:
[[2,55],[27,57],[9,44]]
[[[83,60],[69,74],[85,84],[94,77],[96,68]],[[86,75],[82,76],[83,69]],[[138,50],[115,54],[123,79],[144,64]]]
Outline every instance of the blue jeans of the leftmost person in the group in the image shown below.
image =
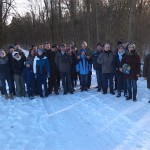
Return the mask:
[[[6,90],[6,80],[5,79],[1,79],[1,83],[2,83],[2,95],[7,94],[7,90]],[[9,94],[13,94],[13,83],[9,80],[7,80],[8,83],[8,87],[9,87]]]

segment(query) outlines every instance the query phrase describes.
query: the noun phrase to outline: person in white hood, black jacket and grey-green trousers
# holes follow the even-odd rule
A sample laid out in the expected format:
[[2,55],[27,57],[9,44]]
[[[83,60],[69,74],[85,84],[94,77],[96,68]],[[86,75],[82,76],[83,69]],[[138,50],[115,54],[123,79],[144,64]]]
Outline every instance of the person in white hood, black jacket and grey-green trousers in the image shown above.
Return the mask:
[[19,52],[12,53],[12,71],[14,76],[14,81],[16,84],[16,96],[25,97],[25,83],[23,79],[23,69],[24,69],[24,59],[19,55]]

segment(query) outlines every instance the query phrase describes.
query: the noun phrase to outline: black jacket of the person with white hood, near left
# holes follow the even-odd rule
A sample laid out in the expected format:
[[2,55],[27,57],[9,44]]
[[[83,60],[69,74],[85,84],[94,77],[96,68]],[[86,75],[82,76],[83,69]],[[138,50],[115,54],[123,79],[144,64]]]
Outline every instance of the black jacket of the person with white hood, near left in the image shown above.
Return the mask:
[[21,57],[20,60],[13,58],[11,66],[13,74],[22,75],[24,69],[24,58]]

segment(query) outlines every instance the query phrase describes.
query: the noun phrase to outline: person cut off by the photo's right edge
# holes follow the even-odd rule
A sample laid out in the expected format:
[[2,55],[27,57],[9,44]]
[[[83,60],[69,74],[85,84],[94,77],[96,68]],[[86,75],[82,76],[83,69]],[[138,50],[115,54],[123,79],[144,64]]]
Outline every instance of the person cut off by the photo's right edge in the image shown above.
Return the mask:
[[150,90],[150,54],[144,60],[143,77],[147,80],[147,88]]

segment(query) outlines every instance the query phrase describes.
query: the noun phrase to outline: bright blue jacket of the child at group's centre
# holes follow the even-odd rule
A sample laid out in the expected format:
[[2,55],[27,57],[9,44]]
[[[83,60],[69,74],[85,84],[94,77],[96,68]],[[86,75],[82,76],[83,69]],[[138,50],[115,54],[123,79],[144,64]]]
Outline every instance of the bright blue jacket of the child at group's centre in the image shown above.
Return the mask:
[[76,71],[79,72],[81,75],[86,75],[89,71],[92,70],[91,64],[89,64],[88,59],[86,56],[82,56],[78,60],[78,64],[76,65]]

